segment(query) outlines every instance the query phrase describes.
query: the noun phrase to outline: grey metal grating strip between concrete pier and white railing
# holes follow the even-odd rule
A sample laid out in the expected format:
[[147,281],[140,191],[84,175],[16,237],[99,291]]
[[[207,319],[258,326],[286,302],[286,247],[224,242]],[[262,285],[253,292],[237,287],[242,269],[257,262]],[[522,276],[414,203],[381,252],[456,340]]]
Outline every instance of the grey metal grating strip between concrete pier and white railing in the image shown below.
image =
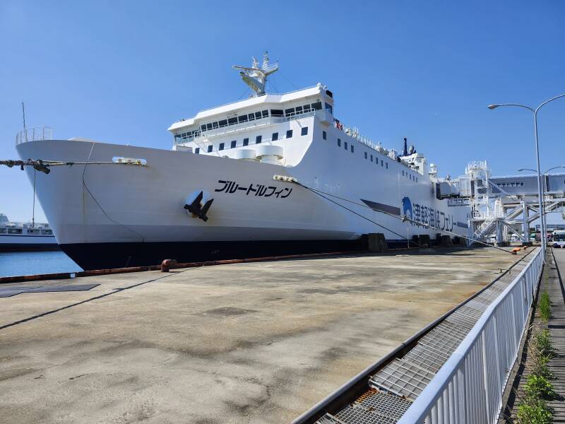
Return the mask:
[[477,323],[483,312],[528,264],[519,261],[480,295],[458,307],[425,334],[403,358],[396,358],[369,379],[369,390],[317,424],[396,423]]

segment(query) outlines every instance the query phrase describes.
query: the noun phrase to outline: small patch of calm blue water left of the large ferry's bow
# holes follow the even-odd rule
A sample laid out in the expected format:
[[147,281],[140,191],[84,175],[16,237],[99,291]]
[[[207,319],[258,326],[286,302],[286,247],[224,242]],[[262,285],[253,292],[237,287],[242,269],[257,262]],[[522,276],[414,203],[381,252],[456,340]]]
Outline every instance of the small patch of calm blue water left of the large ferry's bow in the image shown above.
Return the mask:
[[60,250],[55,252],[0,252],[0,277],[82,270]]

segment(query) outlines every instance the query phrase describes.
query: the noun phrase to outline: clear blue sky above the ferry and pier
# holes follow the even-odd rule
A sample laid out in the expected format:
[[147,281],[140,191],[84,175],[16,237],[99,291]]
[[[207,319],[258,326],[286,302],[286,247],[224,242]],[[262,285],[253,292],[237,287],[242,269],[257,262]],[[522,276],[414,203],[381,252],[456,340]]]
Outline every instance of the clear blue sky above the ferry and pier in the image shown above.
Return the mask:
[[[335,116],[386,147],[403,137],[441,175],[489,160],[535,167],[519,108],[565,93],[562,1],[0,0],[0,158],[22,127],[170,148],[169,124],[242,98],[232,64],[266,49],[270,90],[333,90]],[[565,164],[565,100],[540,112],[542,168]],[[0,212],[31,216],[23,172],[0,167]],[[36,216],[44,218],[42,212]]]

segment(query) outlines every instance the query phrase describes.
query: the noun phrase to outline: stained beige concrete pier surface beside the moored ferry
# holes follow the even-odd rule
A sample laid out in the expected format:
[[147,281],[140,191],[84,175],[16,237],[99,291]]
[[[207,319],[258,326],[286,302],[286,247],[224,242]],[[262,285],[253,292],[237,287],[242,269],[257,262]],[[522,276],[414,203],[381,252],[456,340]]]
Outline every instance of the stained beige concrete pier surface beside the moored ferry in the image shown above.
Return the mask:
[[287,423],[518,257],[351,254],[0,298],[1,423]]

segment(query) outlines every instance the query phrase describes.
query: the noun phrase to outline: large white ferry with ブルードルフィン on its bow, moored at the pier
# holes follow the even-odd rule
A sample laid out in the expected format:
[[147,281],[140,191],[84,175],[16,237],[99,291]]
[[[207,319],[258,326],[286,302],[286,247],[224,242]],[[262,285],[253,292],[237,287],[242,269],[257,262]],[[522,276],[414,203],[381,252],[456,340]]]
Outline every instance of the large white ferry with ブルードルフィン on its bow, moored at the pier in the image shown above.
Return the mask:
[[237,68],[254,95],[172,124],[172,150],[17,137],[22,159],[87,163],[35,175],[61,249],[83,269],[359,249],[371,232],[403,246],[467,234],[468,207],[451,206],[455,188],[424,155],[345,126],[321,83],[266,93],[278,69],[267,55]]

